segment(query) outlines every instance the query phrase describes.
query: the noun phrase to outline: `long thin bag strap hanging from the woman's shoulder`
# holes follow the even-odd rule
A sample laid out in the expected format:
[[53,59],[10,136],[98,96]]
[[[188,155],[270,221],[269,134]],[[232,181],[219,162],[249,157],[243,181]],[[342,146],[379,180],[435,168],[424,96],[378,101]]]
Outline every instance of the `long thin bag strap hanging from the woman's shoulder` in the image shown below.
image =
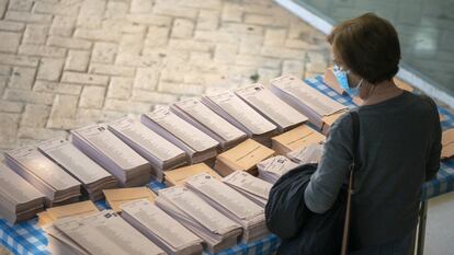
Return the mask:
[[350,116],[352,117],[352,130],[353,130],[353,159],[349,167],[349,189],[347,195],[347,209],[345,209],[345,220],[343,223],[343,233],[342,233],[342,247],[341,255],[347,255],[349,250],[349,234],[350,234],[350,215],[351,215],[351,200],[352,194],[354,194],[354,173],[359,167],[357,150],[360,141],[360,117],[356,112],[350,111]]

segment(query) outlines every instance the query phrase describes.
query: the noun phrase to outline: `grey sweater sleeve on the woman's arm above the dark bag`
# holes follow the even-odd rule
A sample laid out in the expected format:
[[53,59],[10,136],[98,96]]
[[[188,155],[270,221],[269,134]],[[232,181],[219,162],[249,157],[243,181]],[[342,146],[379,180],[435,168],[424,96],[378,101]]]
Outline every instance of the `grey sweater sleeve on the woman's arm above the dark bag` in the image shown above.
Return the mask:
[[353,134],[350,114],[332,126],[317,171],[310,177],[304,199],[307,208],[324,213],[334,204],[353,159]]

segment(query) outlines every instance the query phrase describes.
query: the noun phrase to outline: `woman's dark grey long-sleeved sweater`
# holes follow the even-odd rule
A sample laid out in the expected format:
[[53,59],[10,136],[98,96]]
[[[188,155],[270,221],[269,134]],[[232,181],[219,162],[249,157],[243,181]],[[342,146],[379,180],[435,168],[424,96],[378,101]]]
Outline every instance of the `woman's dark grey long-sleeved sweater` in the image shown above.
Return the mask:
[[[351,245],[363,248],[410,233],[418,219],[421,184],[440,167],[441,127],[436,105],[409,92],[353,111],[360,117]],[[331,127],[324,155],[304,194],[306,206],[325,212],[347,179],[352,161],[349,114]]]

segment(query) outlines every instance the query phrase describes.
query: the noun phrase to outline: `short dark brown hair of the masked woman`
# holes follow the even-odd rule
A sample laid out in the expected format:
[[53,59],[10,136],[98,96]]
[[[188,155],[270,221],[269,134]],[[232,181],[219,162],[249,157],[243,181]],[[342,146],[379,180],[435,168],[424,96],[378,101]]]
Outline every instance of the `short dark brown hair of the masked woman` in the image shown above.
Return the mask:
[[327,37],[345,68],[370,83],[393,79],[399,70],[399,37],[394,26],[374,13],[348,20]]

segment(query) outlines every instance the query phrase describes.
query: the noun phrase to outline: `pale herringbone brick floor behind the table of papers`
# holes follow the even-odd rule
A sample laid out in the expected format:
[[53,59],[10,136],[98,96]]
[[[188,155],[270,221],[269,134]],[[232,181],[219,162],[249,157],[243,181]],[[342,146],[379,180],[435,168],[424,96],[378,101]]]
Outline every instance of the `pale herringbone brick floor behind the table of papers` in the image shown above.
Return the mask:
[[0,151],[329,57],[271,0],[0,0]]

